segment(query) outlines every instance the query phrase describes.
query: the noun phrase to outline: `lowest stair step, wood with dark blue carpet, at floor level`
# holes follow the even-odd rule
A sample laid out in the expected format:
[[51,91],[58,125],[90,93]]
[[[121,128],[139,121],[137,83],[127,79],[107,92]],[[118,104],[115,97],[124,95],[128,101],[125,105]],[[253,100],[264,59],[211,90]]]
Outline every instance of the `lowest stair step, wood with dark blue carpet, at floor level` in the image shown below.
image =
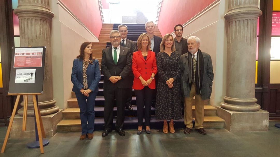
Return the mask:
[[[116,118],[114,118],[113,123],[116,122]],[[184,119],[174,120],[175,129],[183,129],[185,128]],[[194,123],[194,121],[193,121]],[[208,129],[218,129],[224,127],[225,120],[218,116],[205,116],[203,126]],[[104,127],[104,118],[95,118],[95,131],[103,130]],[[136,130],[138,127],[137,117],[125,117],[124,129],[134,129]],[[162,129],[163,121],[156,120],[154,116],[151,116],[151,129]],[[115,130],[115,126],[113,125],[113,130]],[[81,121],[80,119],[75,120],[62,120],[57,124],[58,132],[80,132],[81,131]]]

